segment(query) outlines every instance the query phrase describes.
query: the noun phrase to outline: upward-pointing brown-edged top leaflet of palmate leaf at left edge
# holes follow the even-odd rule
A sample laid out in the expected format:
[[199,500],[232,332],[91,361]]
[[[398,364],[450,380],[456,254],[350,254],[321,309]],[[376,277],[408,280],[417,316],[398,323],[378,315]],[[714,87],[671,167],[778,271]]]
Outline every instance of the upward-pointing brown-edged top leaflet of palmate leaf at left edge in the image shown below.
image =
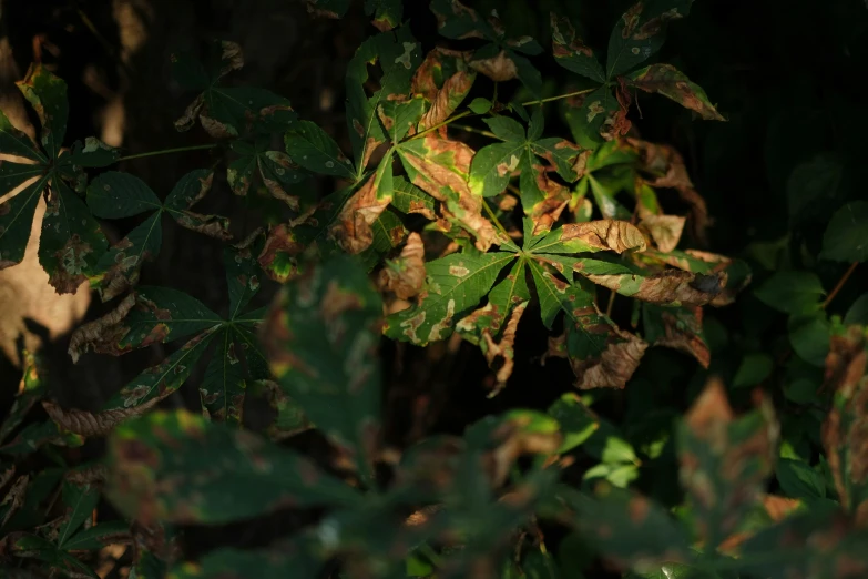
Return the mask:
[[27,77],[16,84],[37,111],[42,125],[40,143],[48,152],[49,159],[57,159],[67,134],[67,83],[45,70],[42,64],[31,64]]

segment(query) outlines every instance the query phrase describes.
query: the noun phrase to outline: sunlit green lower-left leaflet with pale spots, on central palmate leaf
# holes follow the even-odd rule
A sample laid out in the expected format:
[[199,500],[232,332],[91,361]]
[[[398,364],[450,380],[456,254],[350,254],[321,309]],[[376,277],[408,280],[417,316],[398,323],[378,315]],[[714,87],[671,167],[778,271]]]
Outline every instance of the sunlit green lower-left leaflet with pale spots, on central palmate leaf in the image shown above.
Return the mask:
[[452,254],[426,264],[420,302],[386,318],[384,334],[425,346],[452,334],[455,323],[488,294],[515,254]]

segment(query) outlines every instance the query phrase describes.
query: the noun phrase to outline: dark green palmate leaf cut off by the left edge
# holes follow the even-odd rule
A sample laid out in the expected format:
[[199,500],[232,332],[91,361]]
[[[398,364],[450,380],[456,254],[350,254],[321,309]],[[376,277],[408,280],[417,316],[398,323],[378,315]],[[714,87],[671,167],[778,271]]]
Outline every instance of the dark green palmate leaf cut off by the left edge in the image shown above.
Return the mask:
[[40,264],[59,293],[74,293],[95,268],[106,243],[99,224],[68,183],[75,186],[83,183],[86,177],[81,167],[111,164],[118,159],[118,152],[92,138],[84,146],[76,143],[72,154],[61,149],[69,115],[67,84],[41,65],[32,65],[17,85],[40,119],[40,143],[44,151],[0,112],[0,154],[33,162],[0,161],[3,193],[24,186],[0,204],[0,268],[23,258],[33,215],[40,195],[44,194],[48,207],[42,224]]

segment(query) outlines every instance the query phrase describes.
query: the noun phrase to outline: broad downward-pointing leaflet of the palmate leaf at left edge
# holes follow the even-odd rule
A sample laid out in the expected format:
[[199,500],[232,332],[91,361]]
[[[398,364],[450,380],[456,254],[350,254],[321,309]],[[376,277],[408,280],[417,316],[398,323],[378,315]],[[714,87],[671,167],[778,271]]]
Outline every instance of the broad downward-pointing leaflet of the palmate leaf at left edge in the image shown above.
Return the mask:
[[74,293],[96,272],[106,245],[84,202],[54,174],[39,240],[39,263],[49,273],[49,283],[58,293]]

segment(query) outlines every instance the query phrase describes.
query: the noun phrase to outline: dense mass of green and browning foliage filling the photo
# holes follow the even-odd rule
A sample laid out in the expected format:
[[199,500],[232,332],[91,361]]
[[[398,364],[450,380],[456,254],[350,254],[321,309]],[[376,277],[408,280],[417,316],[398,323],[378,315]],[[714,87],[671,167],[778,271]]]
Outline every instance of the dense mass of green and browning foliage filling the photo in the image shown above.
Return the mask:
[[[309,3],[330,18],[349,9]],[[167,195],[108,169],[123,158],[96,139],[67,146],[67,85],[33,64],[18,85],[39,142],[0,113],[0,153],[18,159],[0,161],[0,190],[17,191],[0,205],[0,267],[23,258],[44,199],[51,285],[86,282],[113,304],[75,331],[70,356],[175,347],[98,412],[51,399],[27,354],[0,426],[0,572],[99,577],[102,550],[129,545],[130,577],[147,579],[868,576],[868,294],[845,316],[827,307],[868,257],[868,204],[829,193],[837,158],[799,160],[786,185],[796,241],[708,251],[683,156],[631,121],[644,93],[696,123],[726,121],[657,62],[691,4],[640,1],[601,49],[552,14],[545,49],[497,12],[433,0],[449,42],[425,53],[400,0],[366,0],[379,32],[346,72],[346,150],[286,99],[231,85],[236,43],[174,53],[192,94],[175,128],[198,125],[225,154]],[[568,92],[548,94],[544,59]],[[215,176],[277,202],[245,238],[194,210]],[[314,180],[331,192],[318,199]],[[131,216],[110,244],[100,221]],[[177,225],[225,242],[225,315],[139,284]],[[268,284],[270,306],[252,307]],[[704,324],[706,308],[737,312],[749,337]],[[548,343],[521,354],[533,324]],[[767,346],[767,332],[783,338]],[[563,358],[573,388],[397,448],[382,435],[384,337],[473,344],[491,397],[533,387],[510,380],[522,355]],[[663,348],[684,355],[646,368]],[[166,409],[201,360],[201,408]],[[268,424],[245,421],[253,400],[269,405]],[[292,443],[312,429],[328,450],[306,456]],[[76,461],[101,439],[99,459]],[[204,526],[287,511],[304,524],[259,549],[187,560],[181,547]]]

